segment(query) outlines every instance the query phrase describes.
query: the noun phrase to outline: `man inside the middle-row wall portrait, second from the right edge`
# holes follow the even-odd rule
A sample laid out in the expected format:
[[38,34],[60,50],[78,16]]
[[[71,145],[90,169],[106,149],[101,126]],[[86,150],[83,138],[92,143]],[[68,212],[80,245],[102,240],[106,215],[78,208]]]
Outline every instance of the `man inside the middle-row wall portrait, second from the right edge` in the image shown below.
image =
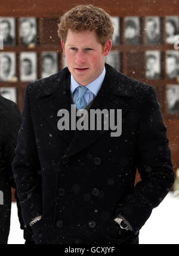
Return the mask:
[[157,57],[154,54],[147,55],[146,61],[146,78],[147,79],[159,79],[160,73],[156,72]]

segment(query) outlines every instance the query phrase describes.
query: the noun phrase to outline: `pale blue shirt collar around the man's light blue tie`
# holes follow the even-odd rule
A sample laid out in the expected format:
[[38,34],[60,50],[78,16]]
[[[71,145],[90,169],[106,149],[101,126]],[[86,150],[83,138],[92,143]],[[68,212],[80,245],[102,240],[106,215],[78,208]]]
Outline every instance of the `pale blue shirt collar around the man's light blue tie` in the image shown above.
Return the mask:
[[[98,78],[96,78],[94,81],[90,82],[90,84],[87,84],[86,87],[96,96],[98,91],[101,88],[101,85],[103,84],[103,80],[104,80],[104,76],[106,74],[106,69],[104,67],[103,72],[101,73],[100,76],[98,76]],[[73,77],[72,73],[71,73],[71,84],[70,84],[70,90],[73,94],[73,92],[75,91],[75,89],[77,87],[81,86]]]

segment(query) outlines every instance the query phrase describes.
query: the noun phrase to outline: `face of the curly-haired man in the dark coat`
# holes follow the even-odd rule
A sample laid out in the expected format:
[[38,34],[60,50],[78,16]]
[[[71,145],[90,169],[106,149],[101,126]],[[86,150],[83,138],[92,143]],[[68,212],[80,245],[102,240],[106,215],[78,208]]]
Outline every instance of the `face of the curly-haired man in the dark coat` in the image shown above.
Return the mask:
[[61,40],[61,45],[66,55],[67,67],[79,84],[87,85],[100,76],[111,44],[109,39],[103,50],[94,30],[78,33],[68,30],[66,42],[64,44]]

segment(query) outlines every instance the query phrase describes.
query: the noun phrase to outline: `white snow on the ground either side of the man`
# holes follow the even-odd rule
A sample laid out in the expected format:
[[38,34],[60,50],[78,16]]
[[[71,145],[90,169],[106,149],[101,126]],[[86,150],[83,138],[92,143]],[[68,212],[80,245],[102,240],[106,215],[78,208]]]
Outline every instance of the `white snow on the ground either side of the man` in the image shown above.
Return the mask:
[[[16,203],[12,203],[9,244],[23,244],[23,231],[17,217]],[[179,244],[179,196],[169,192],[161,204],[153,209],[150,218],[140,230],[140,244]]]

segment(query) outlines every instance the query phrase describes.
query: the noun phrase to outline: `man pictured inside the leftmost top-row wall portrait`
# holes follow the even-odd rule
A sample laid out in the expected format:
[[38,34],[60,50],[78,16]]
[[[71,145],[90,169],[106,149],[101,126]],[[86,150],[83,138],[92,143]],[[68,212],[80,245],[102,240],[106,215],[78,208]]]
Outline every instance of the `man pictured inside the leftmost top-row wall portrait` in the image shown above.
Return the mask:
[[11,36],[11,24],[9,20],[0,21],[0,35],[3,36],[4,45],[14,44],[14,39]]

